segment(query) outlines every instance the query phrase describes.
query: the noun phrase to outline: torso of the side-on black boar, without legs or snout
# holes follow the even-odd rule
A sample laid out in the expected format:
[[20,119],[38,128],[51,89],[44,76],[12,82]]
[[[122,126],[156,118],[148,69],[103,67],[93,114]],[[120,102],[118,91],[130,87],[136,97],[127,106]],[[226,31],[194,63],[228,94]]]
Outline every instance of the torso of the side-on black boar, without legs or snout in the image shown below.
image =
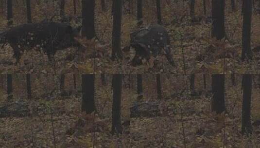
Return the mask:
[[22,24],[13,27],[6,32],[5,36],[9,43],[17,43],[22,47],[32,48],[39,45],[45,48],[58,46],[59,43],[64,42],[68,34],[72,36],[71,26],[46,22]]

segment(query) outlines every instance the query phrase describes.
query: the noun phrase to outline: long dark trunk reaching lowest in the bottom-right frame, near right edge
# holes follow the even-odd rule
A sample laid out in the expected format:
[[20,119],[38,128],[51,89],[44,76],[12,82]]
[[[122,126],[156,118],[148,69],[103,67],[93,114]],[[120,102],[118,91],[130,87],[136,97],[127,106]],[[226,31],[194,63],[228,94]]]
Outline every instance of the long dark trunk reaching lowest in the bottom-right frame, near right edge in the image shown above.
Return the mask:
[[252,134],[252,125],[251,125],[252,74],[243,74],[242,87],[243,87],[242,134]]

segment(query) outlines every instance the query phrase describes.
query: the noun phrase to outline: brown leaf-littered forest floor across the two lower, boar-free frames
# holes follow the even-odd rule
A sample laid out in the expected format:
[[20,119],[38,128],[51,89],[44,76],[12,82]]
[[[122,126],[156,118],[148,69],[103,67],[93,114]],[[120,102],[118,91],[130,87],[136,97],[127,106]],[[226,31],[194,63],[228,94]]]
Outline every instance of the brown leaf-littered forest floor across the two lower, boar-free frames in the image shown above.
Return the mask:
[[[190,91],[183,91],[177,85],[165,85],[169,84],[164,84],[160,115],[154,117],[130,118],[129,108],[137,95],[134,89],[123,89],[121,120],[122,123],[130,120],[130,129],[129,125],[125,126],[120,136],[110,133],[110,85],[96,88],[98,115],[86,115],[80,111],[79,92],[69,96],[58,91],[52,92],[51,96],[39,92],[29,105],[29,100],[19,95],[6,102],[6,94],[0,90],[0,109],[10,105],[8,111],[19,111],[0,117],[0,148],[54,148],[53,129],[56,148],[185,148],[184,143],[186,148],[222,148],[223,145],[225,148],[259,148],[258,88],[252,91],[253,134],[249,142],[241,134],[240,85],[226,87],[227,113],[221,115],[210,111],[212,94],[208,90],[196,89],[200,95],[192,96]],[[143,101],[156,102],[155,89],[151,87],[154,85],[144,86]],[[2,113],[0,116],[6,114]]]

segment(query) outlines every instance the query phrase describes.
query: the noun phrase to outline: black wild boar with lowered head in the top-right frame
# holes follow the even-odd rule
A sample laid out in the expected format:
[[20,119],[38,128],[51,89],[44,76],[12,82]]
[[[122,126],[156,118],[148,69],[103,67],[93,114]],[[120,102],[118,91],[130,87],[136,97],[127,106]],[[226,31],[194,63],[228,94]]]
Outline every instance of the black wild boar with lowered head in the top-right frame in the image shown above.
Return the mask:
[[136,55],[131,61],[133,66],[142,64],[142,59],[149,60],[151,55],[156,57],[161,53],[174,66],[170,38],[166,29],[161,25],[141,28],[139,31],[131,33],[130,38],[130,46],[136,51]]

